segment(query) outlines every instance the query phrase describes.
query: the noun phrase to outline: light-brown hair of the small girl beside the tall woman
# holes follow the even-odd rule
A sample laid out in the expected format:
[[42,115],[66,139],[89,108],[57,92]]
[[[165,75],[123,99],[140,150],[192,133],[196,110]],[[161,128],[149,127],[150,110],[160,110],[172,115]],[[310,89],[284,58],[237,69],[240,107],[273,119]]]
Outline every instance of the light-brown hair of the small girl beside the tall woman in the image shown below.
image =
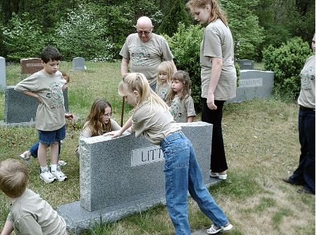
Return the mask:
[[179,91],[179,93],[176,93],[175,91],[170,89],[170,92],[167,96],[167,103],[170,103],[174,99],[174,96],[176,96],[176,94],[178,94],[180,101],[190,96],[190,77],[186,71],[176,71],[176,73],[174,73],[174,75],[172,76],[172,80],[178,80],[179,82],[182,82],[183,88],[181,91]]

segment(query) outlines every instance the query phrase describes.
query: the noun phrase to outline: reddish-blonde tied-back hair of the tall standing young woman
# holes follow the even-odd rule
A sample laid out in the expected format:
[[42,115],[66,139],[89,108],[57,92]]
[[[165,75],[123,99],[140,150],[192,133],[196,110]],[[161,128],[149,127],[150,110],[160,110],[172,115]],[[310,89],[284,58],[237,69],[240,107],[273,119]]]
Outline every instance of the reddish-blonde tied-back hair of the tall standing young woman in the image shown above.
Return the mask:
[[206,8],[206,5],[211,6],[211,22],[220,19],[227,26],[227,17],[225,12],[220,8],[218,0],[190,0],[186,3],[186,7],[190,8],[191,12],[193,12],[194,8]]

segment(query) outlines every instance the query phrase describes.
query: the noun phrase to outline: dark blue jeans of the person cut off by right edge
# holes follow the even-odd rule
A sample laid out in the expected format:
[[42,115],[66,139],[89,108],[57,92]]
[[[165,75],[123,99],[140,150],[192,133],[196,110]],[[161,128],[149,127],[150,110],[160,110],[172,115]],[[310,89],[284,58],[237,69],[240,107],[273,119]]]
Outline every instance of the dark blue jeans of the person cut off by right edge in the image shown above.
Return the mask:
[[315,193],[315,109],[299,109],[299,167],[289,179]]

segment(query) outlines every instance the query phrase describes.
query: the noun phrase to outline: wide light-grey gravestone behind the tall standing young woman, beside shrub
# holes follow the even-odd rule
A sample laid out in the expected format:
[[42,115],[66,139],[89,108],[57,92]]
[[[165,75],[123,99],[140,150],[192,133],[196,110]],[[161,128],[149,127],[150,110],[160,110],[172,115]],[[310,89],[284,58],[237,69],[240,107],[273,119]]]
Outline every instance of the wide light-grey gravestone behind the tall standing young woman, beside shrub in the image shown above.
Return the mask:
[[229,102],[267,98],[272,95],[273,82],[274,73],[271,71],[241,70],[236,97]]

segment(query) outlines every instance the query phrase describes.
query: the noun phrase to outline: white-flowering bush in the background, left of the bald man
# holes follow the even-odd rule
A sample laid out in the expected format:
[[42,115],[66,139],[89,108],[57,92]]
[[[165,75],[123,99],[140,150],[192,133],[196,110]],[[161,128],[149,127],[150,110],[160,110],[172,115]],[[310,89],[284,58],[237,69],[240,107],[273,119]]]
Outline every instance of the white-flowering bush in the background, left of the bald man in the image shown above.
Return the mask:
[[93,61],[112,60],[113,45],[104,37],[106,25],[106,20],[94,17],[93,6],[80,5],[70,10],[56,30],[56,43],[63,59],[80,56]]

